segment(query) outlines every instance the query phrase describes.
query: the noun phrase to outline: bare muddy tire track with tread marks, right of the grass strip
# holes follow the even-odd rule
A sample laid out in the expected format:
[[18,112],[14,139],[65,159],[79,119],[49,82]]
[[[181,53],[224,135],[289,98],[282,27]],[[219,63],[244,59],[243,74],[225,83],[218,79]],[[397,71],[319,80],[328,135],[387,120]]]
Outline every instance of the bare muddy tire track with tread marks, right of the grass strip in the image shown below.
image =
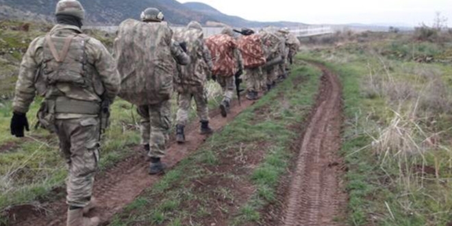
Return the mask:
[[284,201],[281,226],[338,225],[347,203],[341,190],[342,160],[340,132],[342,125],[341,88],[338,77],[325,68],[317,107],[305,129],[296,170]]

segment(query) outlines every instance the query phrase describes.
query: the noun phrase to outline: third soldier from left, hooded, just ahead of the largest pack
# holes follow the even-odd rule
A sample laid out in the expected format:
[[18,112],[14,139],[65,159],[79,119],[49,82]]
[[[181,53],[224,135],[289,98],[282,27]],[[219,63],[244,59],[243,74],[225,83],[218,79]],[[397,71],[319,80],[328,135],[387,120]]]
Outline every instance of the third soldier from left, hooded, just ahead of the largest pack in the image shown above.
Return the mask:
[[209,127],[208,99],[205,83],[210,79],[212,71],[212,58],[208,47],[203,40],[203,28],[192,21],[186,29],[175,34],[175,39],[187,43],[188,55],[191,63],[186,66],[178,66],[178,75],[175,77],[177,91],[177,125],[176,140],[185,142],[184,127],[188,120],[188,110],[191,100],[197,105],[197,112],[201,123],[201,134],[212,134]]

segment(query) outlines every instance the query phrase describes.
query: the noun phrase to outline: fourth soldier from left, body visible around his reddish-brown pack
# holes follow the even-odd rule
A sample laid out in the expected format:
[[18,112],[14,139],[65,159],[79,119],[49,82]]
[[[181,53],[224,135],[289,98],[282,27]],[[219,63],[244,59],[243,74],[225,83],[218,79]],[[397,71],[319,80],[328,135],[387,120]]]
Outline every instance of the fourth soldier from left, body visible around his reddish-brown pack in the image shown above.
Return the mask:
[[[226,34],[228,36],[231,36],[232,38],[235,38],[234,31],[231,27],[225,27],[223,31],[221,31],[221,34]],[[232,51],[234,59],[236,60],[237,63],[236,66],[238,67],[238,72],[236,74],[242,74],[243,71],[242,54],[240,53],[240,50],[238,49],[237,46],[234,47]],[[220,84],[221,88],[223,88],[223,100],[221,101],[220,104],[221,116],[226,117],[231,106],[232,97],[234,97],[234,92],[236,90],[236,78],[235,76],[225,77],[222,75],[216,75],[216,79]]]

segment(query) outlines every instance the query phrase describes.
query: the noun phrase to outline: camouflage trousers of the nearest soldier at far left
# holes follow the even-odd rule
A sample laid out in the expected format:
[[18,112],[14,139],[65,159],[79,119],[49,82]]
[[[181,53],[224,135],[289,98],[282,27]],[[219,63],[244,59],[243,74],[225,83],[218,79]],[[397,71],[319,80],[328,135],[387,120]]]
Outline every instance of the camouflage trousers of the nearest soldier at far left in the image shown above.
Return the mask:
[[68,165],[66,202],[81,207],[88,205],[99,162],[99,118],[56,119],[55,133],[60,140],[60,153]]

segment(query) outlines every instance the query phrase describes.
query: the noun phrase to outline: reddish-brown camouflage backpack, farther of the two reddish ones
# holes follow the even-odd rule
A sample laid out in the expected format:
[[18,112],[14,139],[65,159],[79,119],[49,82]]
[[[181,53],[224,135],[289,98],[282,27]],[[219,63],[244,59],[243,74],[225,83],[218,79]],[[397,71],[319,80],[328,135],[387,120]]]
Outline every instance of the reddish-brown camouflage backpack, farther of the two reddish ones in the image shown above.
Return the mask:
[[242,36],[238,40],[238,49],[242,53],[244,68],[256,68],[266,63],[262,41],[258,34]]

